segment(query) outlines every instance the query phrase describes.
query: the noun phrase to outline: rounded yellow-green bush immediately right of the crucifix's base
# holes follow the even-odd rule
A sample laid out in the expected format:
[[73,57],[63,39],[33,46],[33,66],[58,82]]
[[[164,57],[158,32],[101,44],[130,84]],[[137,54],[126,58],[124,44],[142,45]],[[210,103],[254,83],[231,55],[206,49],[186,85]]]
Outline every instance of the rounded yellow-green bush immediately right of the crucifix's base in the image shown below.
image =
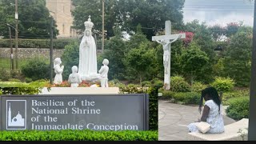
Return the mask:
[[190,85],[181,76],[174,76],[170,78],[170,90],[174,92],[189,92]]

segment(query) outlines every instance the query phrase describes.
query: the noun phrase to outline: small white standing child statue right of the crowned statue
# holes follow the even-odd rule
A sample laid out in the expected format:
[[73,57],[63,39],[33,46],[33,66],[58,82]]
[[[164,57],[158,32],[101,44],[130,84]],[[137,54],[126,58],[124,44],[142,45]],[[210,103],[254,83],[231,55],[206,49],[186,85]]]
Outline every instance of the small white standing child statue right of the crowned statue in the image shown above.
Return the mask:
[[103,66],[98,70],[98,73],[101,75],[101,87],[109,87],[107,78],[107,74],[109,72],[109,66],[107,65],[109,64],[109,60],[105,58],[102,64]]

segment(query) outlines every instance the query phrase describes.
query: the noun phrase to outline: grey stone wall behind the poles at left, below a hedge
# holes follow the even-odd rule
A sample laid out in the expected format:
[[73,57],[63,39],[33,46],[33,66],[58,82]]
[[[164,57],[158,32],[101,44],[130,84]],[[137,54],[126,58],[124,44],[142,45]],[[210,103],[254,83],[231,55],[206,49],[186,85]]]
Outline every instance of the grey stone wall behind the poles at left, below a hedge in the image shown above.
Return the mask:
[[[14,58],[15,58],[15,48]],[[61,57],[64,49],[54,49],[54,58]],[[18,58],[34,58],[44,57],[50,58],[50,49],[38,49],[38,48],[18,48]],[[0,48],[0,58],[10,58],[10,48]]]

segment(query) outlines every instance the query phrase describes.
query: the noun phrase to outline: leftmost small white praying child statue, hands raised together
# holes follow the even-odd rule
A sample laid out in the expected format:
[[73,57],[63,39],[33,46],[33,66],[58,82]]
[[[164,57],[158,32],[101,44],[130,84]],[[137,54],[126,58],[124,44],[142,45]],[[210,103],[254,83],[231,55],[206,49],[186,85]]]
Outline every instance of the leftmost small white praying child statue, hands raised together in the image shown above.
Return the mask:
[[62,83],[62,72],[64,70],[64,66],[61,66],[62,60],[61,58],[54,59],[54,84],[61,84]]

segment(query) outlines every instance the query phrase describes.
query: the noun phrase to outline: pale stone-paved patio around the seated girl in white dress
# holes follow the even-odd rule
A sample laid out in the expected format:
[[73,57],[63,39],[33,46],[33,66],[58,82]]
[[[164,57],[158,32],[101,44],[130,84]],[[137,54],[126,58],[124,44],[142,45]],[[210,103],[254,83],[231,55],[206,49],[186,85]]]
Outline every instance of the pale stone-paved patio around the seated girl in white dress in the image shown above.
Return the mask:
[[[158,100],[158,140],[186,141],[187,125],[200,118],[198,106],[184,106]],[[224,125],[235,122],[223,114]]]

